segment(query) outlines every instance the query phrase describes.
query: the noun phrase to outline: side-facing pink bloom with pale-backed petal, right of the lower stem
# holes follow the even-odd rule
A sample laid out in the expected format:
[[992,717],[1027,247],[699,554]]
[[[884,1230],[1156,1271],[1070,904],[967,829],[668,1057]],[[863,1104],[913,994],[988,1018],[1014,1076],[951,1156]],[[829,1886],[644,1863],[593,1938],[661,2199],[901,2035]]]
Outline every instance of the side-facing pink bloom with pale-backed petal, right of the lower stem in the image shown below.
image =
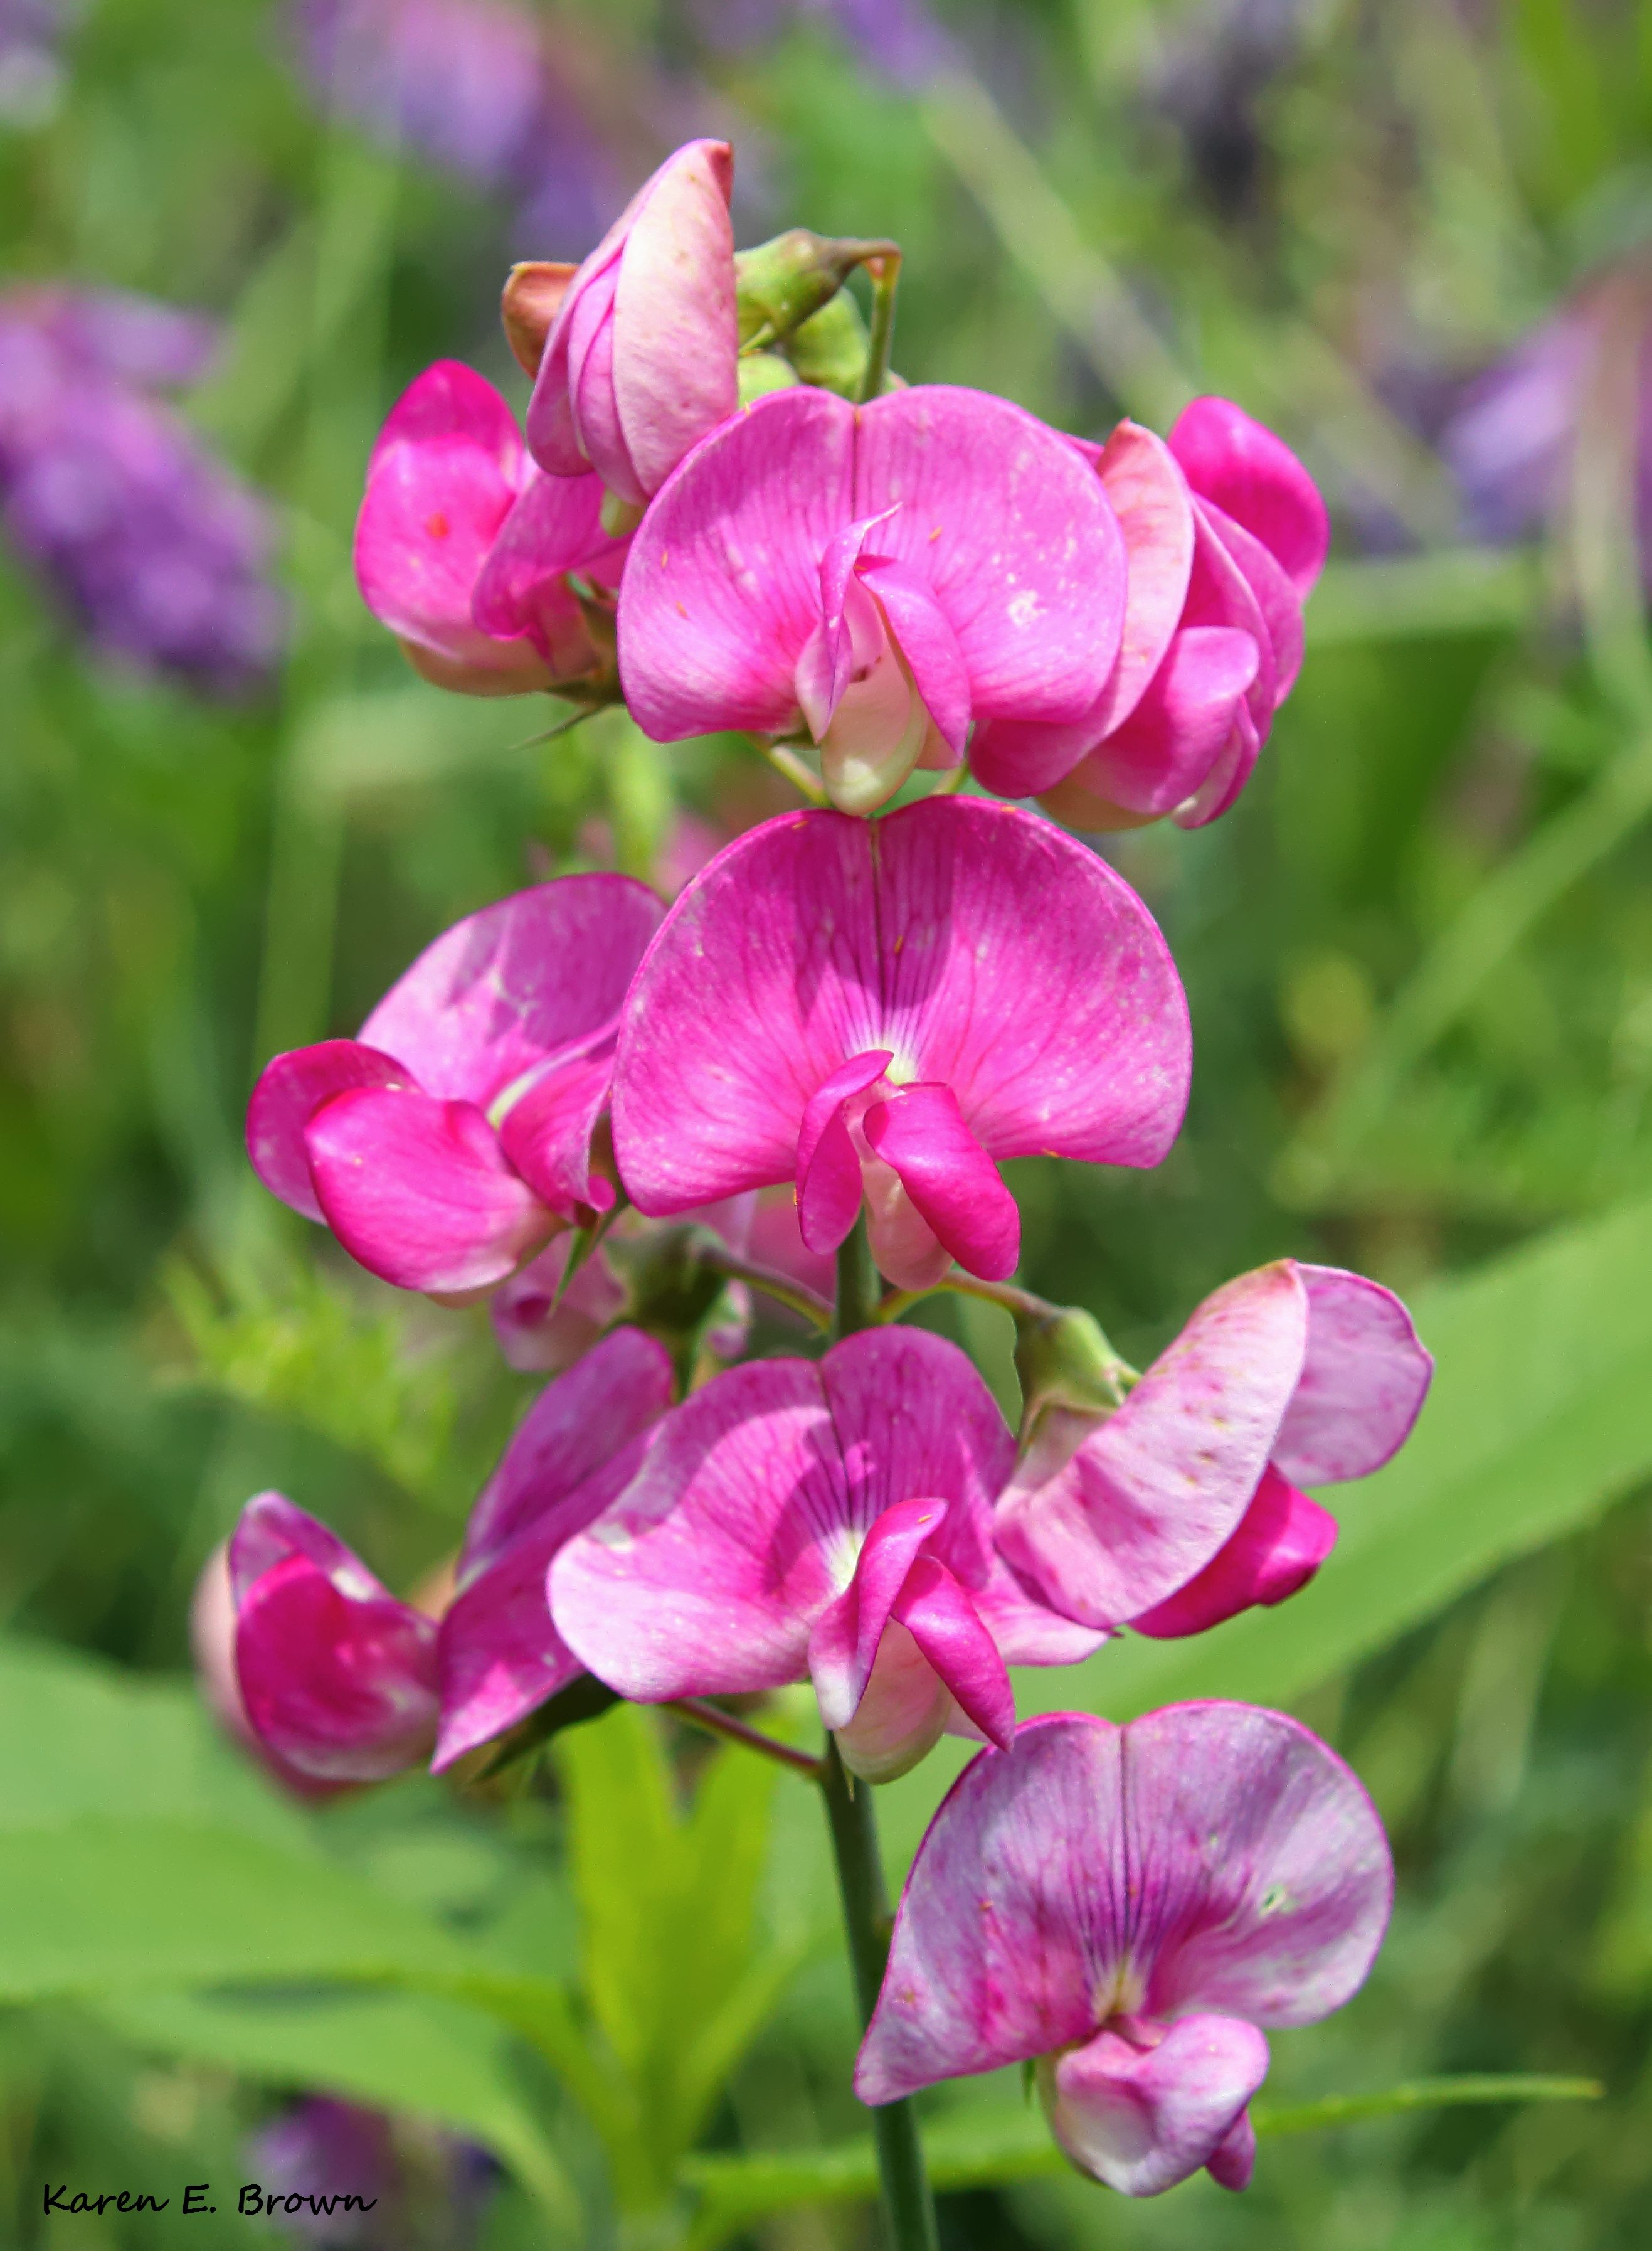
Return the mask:
[[[1404,1445],[1434,1360],[1393,1290],[1281,1258],[1224,1283],[1096,1420],[1044,1416],[999,1506],[997,1542],[1051,1607],[1085,1625],[1202,1634],[1254,1603],[1283,1603],[1337,1544],[1303,1486],[1368,1477]],[[1164,1600],[1134,1603],[1128,1569],[1188,1510],[1229,1535]]]

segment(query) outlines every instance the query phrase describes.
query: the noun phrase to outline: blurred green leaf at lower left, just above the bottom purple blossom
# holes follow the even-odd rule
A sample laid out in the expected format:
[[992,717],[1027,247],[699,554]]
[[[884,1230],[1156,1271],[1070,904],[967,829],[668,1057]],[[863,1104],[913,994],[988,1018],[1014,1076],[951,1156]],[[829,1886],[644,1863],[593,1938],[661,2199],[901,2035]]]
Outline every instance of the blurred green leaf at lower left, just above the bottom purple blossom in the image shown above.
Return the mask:
[[572,2231],[574,2190],[545,2141],[497,2024],[394,1992],[113,1994],[92,2012],[155,2055],[225,2064],[245,2080],[410,2111],[484,2143]]

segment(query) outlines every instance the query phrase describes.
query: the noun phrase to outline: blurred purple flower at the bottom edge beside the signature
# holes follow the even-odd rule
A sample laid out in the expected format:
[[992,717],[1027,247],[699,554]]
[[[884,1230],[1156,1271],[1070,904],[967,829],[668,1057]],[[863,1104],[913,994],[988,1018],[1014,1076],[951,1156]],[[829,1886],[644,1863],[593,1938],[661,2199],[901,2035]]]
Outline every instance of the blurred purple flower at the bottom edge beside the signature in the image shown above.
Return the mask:
[[[394,2125],[383,2111],[331,2096],[306,2096],[266,2125],[248,2163],[266,2199],[322,2206],[270,2219],[324,2251],[468,2251],[497,2181],[493,2159],[475,2143]],[[324,2208],[342,2197],[367,2210]]]

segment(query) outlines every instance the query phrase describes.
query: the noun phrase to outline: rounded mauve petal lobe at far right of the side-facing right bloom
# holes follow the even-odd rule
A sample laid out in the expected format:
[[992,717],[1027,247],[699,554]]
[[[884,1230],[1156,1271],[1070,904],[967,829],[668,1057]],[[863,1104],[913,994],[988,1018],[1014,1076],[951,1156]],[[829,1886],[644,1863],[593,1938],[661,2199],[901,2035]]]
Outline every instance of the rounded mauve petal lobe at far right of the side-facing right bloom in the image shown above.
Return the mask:
[[1296,1272],[1308,1290],[1308,1357],[1274,1463],[1301,1486],[1371,1477],[1411,1436],[1434,1355],[1393,1290],[1341,1267]]

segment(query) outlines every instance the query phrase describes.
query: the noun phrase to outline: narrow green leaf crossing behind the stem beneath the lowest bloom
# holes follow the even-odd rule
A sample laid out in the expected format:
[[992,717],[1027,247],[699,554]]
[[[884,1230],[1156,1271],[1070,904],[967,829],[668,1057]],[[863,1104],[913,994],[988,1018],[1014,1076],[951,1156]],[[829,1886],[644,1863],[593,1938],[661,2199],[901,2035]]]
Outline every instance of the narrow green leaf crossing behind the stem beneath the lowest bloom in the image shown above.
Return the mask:
[[[1542,2078],[1535,2073],[1474,2073],[1463,2078],[1411,2080],[1368,2096],[1330,2096],[1290,2109],[1256,2105],[1258,2136],[1305,2134],[1321,2127],[1389,2118],[1400,2111],[1443,2109],[1458,2102],[1593,2102],[1598,2080]],[[925,2125],[923,2150],[936,2190],[1002,2188],[1008,2181],[1065,2174],[1071,2165],[1051,2141],[1042,2111],[984,2109]],[[756,2219],[801,2204],[862,2204],[878,2195],[878,2154],[871,2134],[828,2150],[774,2150],[749,2156],[691,2156],[684,2186],[698,2195],[686,2251],[716,2251]]]

